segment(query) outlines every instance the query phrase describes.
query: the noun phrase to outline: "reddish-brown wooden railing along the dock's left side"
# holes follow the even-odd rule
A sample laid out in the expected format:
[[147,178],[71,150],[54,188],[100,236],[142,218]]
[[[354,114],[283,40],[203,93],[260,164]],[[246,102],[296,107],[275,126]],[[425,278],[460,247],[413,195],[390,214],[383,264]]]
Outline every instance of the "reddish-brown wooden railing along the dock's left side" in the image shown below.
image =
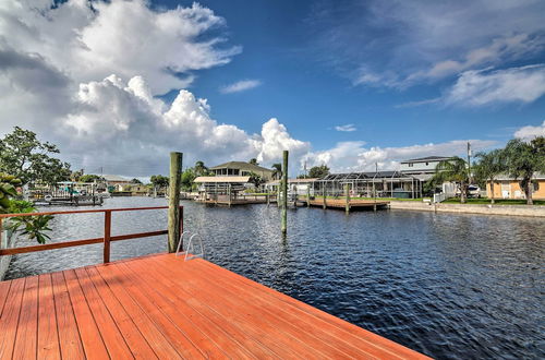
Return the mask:
[[[105,208],[105,209],[86,209],[86,211],[68,211],[68,212],[45,212],[45,213],[23,213],[23,214],[0,214],[0,237],[2,233],[2,220],[10,217],[19,216],[37,216],[37,215],[65,215],[65,214],[88,214],[88,213],[104,213],[104,237],[93,238],[93,239],[80,239],[63,242],[53,242],[47,244],[23,247],[23,248],[11,248],[11,249],[0,249],[1,255],[13,255],[23,254],[35,251],[63,249],[72,247],[88,245],[92,243],[104,243],[104,262],[110,262],[110,242],[121,241],[147,237],[156,237],[159,235],[167,235],[168,230],[158,231],[147,231],[147,232],[135,232],[119,236],[111,236],[111,213],[116,212],[134,212],[134,211],[150,211],[150,209],[164,209],[168,206],[155,206],[155,207],[125,207],[125,208]],[[183,232],[183,206],[180,206],[180,233]],[[1,243],[1,242],[0,242]],[[183,244],[182,244],[183,247]]]

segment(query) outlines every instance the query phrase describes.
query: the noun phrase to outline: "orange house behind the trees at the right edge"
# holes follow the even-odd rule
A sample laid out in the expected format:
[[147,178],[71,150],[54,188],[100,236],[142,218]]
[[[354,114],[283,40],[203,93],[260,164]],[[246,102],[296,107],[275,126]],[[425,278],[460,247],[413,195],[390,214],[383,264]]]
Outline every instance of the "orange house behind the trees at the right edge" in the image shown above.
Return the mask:
[[[532,187],[532,199],[545,200],[545,173],[535,173]],[[486,183],[486,196],[492,197],[491,181]],[[520,188],[519,179],[500,175],[494,181],[495,199],[526,199],[524,190]]]

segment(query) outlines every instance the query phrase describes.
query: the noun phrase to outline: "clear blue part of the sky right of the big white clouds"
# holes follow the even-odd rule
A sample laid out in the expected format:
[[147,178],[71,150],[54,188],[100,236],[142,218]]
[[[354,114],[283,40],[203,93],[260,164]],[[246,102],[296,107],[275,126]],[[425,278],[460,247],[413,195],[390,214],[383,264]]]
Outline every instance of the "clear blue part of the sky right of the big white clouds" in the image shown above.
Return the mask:
[[[158,2],[175,7],[178,1]],[[189,4],[187,2],[181,2]],[[411,101],[434,99],[447,92],[458,76],[416,83],[407,88],[354,84],[350,67],[361,63],[390,63],[385,71],[399,72],[399,62],[382,47],[365,50],[363,41],[396,43],[399,23],[375,20],[365,24],[368,11],[365,1],[201,1],[227,21],[229,43],[241,45],[243,51],[229,64],[198,74],[190,87],[196,96],[213,104],[213,116],[258,132],[263,119],[278,118],[290,133],[311,141],[316,149],[326,149],[341,141],[363,140],[377,146],[409,146],[419,143],[445,142],[455,139],[484,139],[505,142],[518,128],[540,125],[545,119],[545,97],[534,101],[494,101],[484,106],[463,104],[429,104],[407,106]],[[371,3],[371,2],[367,2]],[[540,7],[545,13],[545,9]],[[319,12],[325,12],[318,14]],[[331,12],[327,14],[327,12]],[[542,15],[543,17],[544,15]],[[545,24],[545,17],[543,17]],[[521,22],[523,19],[521,19]],[[325,37],[332,27],[347,22],[335,46]],[[323,28],[323,26],[331,28]],[[479,26],[479,24],[474,24]],[[457,27],[452,26],[452,33]],[[545,31],[545,26],[541,32]],[[516,35],[517,27],[498,29],[468,44],[465,51],[488,46],[494,39]],[[360,33],[366,33],[360,36]],[[443,38],[449,41],[449,38]],[[343,44],[344,43],[344,44]],[[543,44],[542,44],[543,45]],[[387,46],[387,45],[385,45]],[[335,53],[337,52],[337,53]],[[350,52],[349,60],[342,57]],[[403,55],[399,55],[402,57]],[[349,57],[349,56],[347,56]],[[410,53],[412,63],[419,59]],[[440,59],[440,58],[438,58]],[[445,57],[444,59],[447,59]],[[455,58],[456,59],[456,58]],[[344,62],[343,62],[344,61]],[[494,69],[509,69],[545,61],[545,48],[521,58],[506,59]],[[474,68],[485,69],[489,63]],[[416,65],[416,68],[420,68]],[[221,94],[219,88],[244,79],[262,82],[261,86],[235,94]],[[336,125],[354,124],[356,131],[335,131]]]

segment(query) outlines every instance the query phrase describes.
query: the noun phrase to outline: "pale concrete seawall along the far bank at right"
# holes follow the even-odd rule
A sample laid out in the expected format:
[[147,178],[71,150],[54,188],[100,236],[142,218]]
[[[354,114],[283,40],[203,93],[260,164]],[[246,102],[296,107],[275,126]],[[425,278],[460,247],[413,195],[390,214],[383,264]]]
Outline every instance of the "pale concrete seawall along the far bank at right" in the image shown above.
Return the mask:
[[545,217],[545,206],[541,205],[432,204],[415,201],[391,201],[390,208],[436,213]]

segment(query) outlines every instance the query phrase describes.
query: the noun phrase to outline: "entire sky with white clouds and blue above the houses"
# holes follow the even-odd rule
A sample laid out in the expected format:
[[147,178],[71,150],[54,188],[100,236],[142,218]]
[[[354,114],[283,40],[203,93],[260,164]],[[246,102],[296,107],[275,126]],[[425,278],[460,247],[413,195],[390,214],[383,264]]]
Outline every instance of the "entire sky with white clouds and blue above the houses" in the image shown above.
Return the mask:
[[[289,149],[292,171],[545,134],[545,2],[0,1],[0,135],[146,177]],[[293,172],[292,172],[293,173]]]

